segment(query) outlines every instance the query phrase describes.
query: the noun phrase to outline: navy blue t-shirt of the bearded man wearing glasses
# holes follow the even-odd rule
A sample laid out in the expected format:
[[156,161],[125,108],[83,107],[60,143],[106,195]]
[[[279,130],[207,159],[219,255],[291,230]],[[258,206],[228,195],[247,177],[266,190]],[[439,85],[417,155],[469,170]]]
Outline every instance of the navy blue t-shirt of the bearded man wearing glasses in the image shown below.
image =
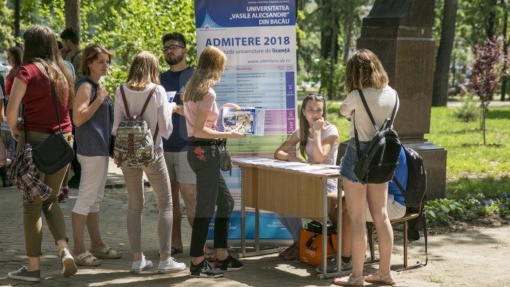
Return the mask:
[[[165,88],[165,91],[175,91],[174,103],[182,105],[181,93],[184,90],[184,86],[188,82],[188,79],[193,76],[195,69],[187,67],[179,72],[172,72],[168,70],[159,75],[161,85]],[[179,115],[179,113],[172,114],[172,125],[174,130],[172,131],[168,140],[163,139],[163,150],[165,152],[184,152],[188,150],[188,131],[186,130],[186,118]]]

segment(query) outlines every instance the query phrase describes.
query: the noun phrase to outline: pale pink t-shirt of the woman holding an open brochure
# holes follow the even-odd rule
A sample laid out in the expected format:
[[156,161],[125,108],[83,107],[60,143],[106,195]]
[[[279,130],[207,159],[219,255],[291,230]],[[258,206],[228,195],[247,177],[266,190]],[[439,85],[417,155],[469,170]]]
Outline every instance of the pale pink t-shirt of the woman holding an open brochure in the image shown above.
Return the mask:
[[195,126],[195,120],[199,108],[203,108],[209,111],[208,118],[205,120],[205,127],[210,128],[211,130],[217,130],[216,121],[218,116],[220,116],[220,111],[218,111],[216,106],[216,93],[212,88],[210,88],[202,101],[184,102],[184,116],[186,116],[186,129],[188,130],[188,137],[192,137],[194,135],[193,127]]

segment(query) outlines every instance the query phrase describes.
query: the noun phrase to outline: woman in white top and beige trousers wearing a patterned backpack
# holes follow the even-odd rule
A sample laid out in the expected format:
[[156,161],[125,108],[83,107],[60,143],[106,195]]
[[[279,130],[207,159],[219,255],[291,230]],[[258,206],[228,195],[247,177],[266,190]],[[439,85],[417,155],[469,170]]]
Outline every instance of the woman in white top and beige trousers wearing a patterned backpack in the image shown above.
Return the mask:
[[113,135],[121,120],[126,117],[125,106],[122,99],[123,88],[128,102],[130,115],[140,115],[147,96],[156,87],[152,99],[143,115],[151,134],[154,135],[156,127],[159,132],[154,140],[154,150],[157,160],[154,164],[140,167],[123,167],[124,180],[128,190],[128,237],[130,240],[133,263],[131,272],[140,273],[152,268],[152,261],[146,260],[142,253],[142,208],[144,205],[143,179],[145,171],[147,179],[156,196],[158,215],[159,238],[159,266],[161,274],[182,271],[186,264],[174,261],[170,257],[171,229],[172,229],[172,198],[170,179],[163,157],[162,137],[168,139],[172,132],[171,113],[175,103],[169,103],[163,86],[159,85],[159,62],[151,52],[139,52],[133,60],[128,81],[115,91],[115,112],[113,120]]

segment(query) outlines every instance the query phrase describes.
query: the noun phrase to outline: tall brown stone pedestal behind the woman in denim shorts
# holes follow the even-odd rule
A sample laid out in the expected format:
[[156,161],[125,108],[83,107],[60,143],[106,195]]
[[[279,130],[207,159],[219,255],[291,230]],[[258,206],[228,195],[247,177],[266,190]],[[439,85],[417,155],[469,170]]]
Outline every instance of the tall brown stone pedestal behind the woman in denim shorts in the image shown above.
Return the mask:
[[399,95],[394,128],[402,143],[424,158],[429,173],[427,196],[446,191],[446,150],[424,138],[430,132],[435,43],[433,0],[376,0],[363,18],[357,47],[379,57]]

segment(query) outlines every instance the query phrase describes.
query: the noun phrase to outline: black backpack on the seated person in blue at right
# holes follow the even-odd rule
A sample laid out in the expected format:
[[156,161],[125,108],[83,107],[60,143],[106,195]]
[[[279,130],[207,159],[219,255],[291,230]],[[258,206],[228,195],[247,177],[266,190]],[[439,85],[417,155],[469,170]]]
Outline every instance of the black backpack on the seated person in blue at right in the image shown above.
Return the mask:
[[[403,146],[402,146],[403,147]],[[418,207],[423,200],[427,188],[426,170],[423,164],[423,158],[412,148],[404,147],[407,162],[407,186],[402,187],[395,176],[393,182],[402,191],[404,200],[408,208]]]

